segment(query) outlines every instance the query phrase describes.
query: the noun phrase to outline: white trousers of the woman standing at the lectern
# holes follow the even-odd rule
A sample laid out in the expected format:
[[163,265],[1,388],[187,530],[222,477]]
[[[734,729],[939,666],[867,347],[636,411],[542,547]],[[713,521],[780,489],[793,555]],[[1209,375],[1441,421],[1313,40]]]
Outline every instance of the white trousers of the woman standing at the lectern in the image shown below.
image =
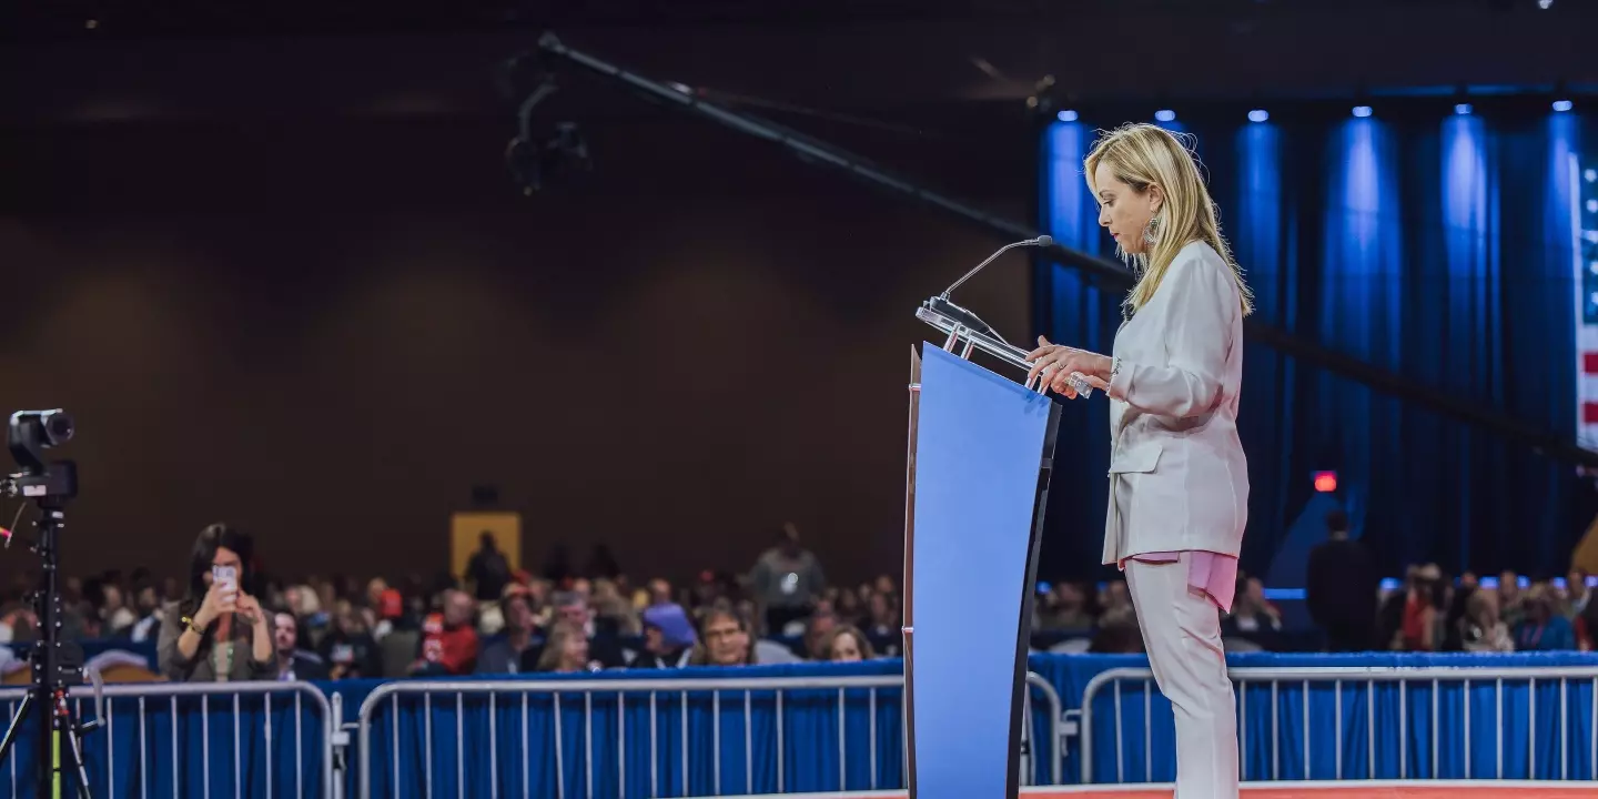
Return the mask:
[[1221,612],[1187,586],[1187,559],[1127,561],[1127,588],[1154,681],[1176,714],[1176,799],[1237,799],[1237,716]]

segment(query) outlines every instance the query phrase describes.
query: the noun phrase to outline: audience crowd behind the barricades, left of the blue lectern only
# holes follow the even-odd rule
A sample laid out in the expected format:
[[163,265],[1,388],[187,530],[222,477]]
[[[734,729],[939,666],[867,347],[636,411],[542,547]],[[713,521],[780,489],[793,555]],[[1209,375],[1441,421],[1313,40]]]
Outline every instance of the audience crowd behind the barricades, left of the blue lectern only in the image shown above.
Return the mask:
[[[157,583],[147,569],[67,580],[64,633],[155,641],[161,674],[177,681],[849,662],[901,646],[896,582],[829,585],[793,526],[748,574],[705,572],[684,586],[634,583],[604,547],[582,569],[558,551],[545,574],[513,570],[489,535],[463,575],[431,580],[284,580],[251,574],[252,550],[216,524],[195,542],[187,583]],[[225,604],[217,567],[238,574]],[[35,638],[27,590],[19,580],[6,593],[0,644]],[[260,638],[270,647],[257,650]]]

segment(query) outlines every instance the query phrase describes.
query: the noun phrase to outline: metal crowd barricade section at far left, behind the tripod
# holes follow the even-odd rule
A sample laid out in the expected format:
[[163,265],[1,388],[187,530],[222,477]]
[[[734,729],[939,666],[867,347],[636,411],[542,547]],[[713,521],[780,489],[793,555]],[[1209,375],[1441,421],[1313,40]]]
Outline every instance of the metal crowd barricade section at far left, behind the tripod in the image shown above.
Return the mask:
[[[0,690],[6,719],[27,690]],[[101,727],[83,735],[94,796],[334,796],[336,719],[328,697],[308,682],[112,684],[102,697]],[[96,718],[93,687],[74,687],[69,700],[78,722]],[[34,783],[32,714],[46,711],[29,708],[29,724],[0,764],[0,785],[10,788],[3,796],[21,796]]]

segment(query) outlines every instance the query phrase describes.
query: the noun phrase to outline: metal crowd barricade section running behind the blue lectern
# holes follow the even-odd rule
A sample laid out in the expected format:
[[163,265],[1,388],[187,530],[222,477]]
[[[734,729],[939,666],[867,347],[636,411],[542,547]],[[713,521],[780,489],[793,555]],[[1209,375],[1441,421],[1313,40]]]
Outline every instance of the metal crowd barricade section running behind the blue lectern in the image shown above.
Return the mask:
[[[1063,740],[1061,740],[1063,706],[1061,706],[1061,702],[1059,702],[1059,695],[1055,692],[1055,689],[1047,681],[1043,681],[1037,674],[1028,674],[1028,686],[1029,686],[1029,689],[1039,690],[1042,694],[1042,697],[1043,697],[1043,705],[1045,705],[1047,713],[1048,713],[1048,718],[1047,718],[1047,729],[1048,729],[1047,746],[1048,746],[1048,757],[1051,761],[1050,773],[1053,775],[1053,780],[1058,785],[1059,780],[1061,780],[1061,762],[1059,761],[1061,761],[1061,754],[1063,754]],[[502,767],[502,764],[499,761],[499,754],[497,754],[499,753],[499,743],[500,743],[500,740],[499,740],[499,735],[500,735],[500,729],[499,729],[500,719],[507,714],[507,711],[510,711],[508,716],[511,719],[519,718],[521,732],[519,732],[518,738],[521,741],[521,746],[516,751],[516,756],[521,761],[521,767],[519,767],[519,794],[521,796],[534,796],[534,791],[532,791],[532,786],[531,786],[532,764],[534,762],[547,762],[545,757],[548,756],[548,751],[542,751],[542,753],[540,751],[531,751],[532,746],[529,745],[529,738],[532,738],[532,735],[527,733],[527,730],[529,730],[529,698],[531,697],[540,697],[540,698],[547,697],[550,700],[551,706],[553,706],[551,729],[543,730],[540,733],[540,740],[537,741],[537,746],[540,749],[553,749],[553,764],[555,764],[553,765],[553,772],[555,772],[555,780],[556,780],[555,797],[556,799],[566,799],[569,796],[578,796],[578,794],[582,794],[582,796],[596,796],[596,791],[594,791],[596,767],[594,767],[594,764],[599,759],[610,761],[610,764],[606,764],[602,767],[604,769],[615,769],[615,778],[617,778],[615,785],[620,786],[620,793],[622,794],[626,794],[626,785],[628,785],[628,773],[626,773],[626,765],[628,765],[628,756],[626,756],[628,754],[626,753],[626,748],[628,748],[628,722],[626,722],[625,708],[633,706],[633,703],[638,703],[638,702],[646,703],[647,708],[649,708],[649,716],[647,716],[649,718],[649,721],[647,721],[647,725],[649,725],[649,733],[647,733],[647,737],[649,737],[649,743],[647,743],[647,746],[649,746],[649,753],[647,753],[649,786],[647,786],[647,793],[649,793],[649,796],[652,796],[652,797],[657,797],[657,796],[690,796],[690,785],[689,785],[690,749],[694,749],[697,746],[708,746],[710,751],[711,751],[714,783],[710,788],[713,791],[711,793],[713,796],[756,793],[754,791],[754,780],[756,780],[754,773],[756,773],[757,767],[761,770],[765,770],[765,769],[773,769],[775,770],[777,791],[781,793],[781,791],[788,789],[788,772],[791,769],[796,769],[796,767],[797,769],[807,769],[807,770],[813,770],[815,769],[813,764],[797,764],[796,765],[796,764],[785,762],[785,746],[783,746],[783,735],[785,735],[785,732],[783,732],[785,730],[785,716],[783,716],[783,713],[785,713],[785,710],[783,710],[783,705],[785,705],[785,695],[794,694],[794,692],[809,692],[809,694],[815,694],[815,692],[837,692],[837,711],[839,711],[837,713],[837,772],[839,772],[839,780],[841,781],[847,781],[847,772],[849,772],[850,757],[852,756],[853,757],[860,757],[860,753],[865,751],[865,757],[869,759],[869,773],[871,773],[871,785],[869,785],[869,788],[871,789],[876,789],[876,788],[893,788],[893,786],[885,786],[885,785],[879,786],[877,785],[877,765],[879,765],[877,764],[877,757],[879,757],[877,753],[882,748],[880,746],[882,741],[879,740],[880,738],[880,730],[879,730],[879,724],[876,721],[877,719],[877,694],[882,692],[882,690],[901,692],[903,687],[904,687],[904,681],[898,674],[892,674],[892,676],[857,676],[857,678],[727,678],[727,679],[721,679],[721,678],[697,678],[697,679],[694,679],[694,678],[689,678],[689,679],[586,679],[586,681],[564,681],[564,679],[562,681],[526,681],[526,679],[519,679],[519,681],[455,681],[455,682],[443,682],[443,681],[438,681],[438,682],[435,682],[435,681],[388,682],[388,684],[379,686],[377,689],[372,690],[371,695],[366,697],[366,700],[361,703],[361,710],[360,710],[360,714],[356,718],[358,719],[356,721],[356,729],[358,729],[358,740],[360,740],[360,745],[358,745],[360,746],[360,753],[358,753],[358,756],[360,756],[360,775],[358,775],[360,796],[363,799],[369,799],[372,796],[372,793],[374,793],[374,767],[372,767],[374,756],[376,757],[387,757],[390,761],[388,765],[392,769],[393,785],[388,786],[388,794],[398,796],[401,793],[401,785],[404,783],[403,773],[401,773],[401,762],[406,759],[404,757],[406,753],[401,751],[401,735],[400,735],[401,697],[415,697],[415,695],[420,695],[420,702],[422,702],[420,724],[422,724],[422,738],[423,738],[423,741],[422,741],[422,745],[419,748],[422,761],[423,761],[422,762],[422,786],[420,786],[419,793],[422,796],[427,796],[427,797],[435,796],[435,788],[438,788],[439,793],[446,794],[446,796],[467,796],[468,794],[468,778],[467,778],[468,769],[465,767],[467,751],[468,751],[468,748],[467,748],[468,730],[467,730],[467,722],[465,722],[465,697],[468,697],[468,695],[486,697],[486,702],[487,702],[487,713],[486,713],[487,764],[486,764],[486,767],[487,767],[487,773],[489,775],[499,775],[500,773],[500,767]],[[866,730],[868,740],[865,741],[865,746],[858,746],[858,743],[861,743],[861,741],[852,741],[850,737],[845,732],[845,719],[844,719],[844,716],[845,716],[845,697],[847,697],[849,692],[857,692],[857,690],[865,690],[866,692],[866,702],[868,702],[866,718],[869,719],[869,727]],[[775,733],[775,762],[757,764],[756,759],[754,759],[754,741],[753,741],[753,738],[754,738],[754,722],[753,722],[753,716],[754,716],[753,703],[754,703],[754,700],[753,700],[753,697],[756,694],[767,694],[767,692],[775,695],[775,700],[773,700],[775,702],[775,724],[772,725],[773,733]],[[703,722],[697,722],[697,724],[690,725],[690,721],[689,721],[689,697],[690,695],[703,695],[703,694],[710,694],[711,703],[713,703],[713,708],[714,708],[713,713],[710,714],[710,724],[708,724],[710,729],[708,730],[702,729],[702,727],[705,727]],[[741,754],[743,754],[745,769],[743,769],[743,780],[738,781],[737,785],[722,785],[722,781],[724,781],[722,780],[722,769],[721,769],[721,765],[722,765],[722,751],[724,751],[724,745],[722,745],[722,697],[727,695],[727,694],[733,694],[735,695],[730,702],[741,702],[741,705],[743,705],[743,746],[741,746],[743,751],[741,751]],[[582,746],[582,756],[580,756],[580,762],[582,762],[580,769],[582,769],[582,772],[577,773],[577,775],[567,777],[567,769],[566,769],[566,754],[567,753],[564,751],[566,735],[562,735],[562,727],[561,727],[562,725],[562,722],[561,722],[561,719],[562,719],[562,711],[561,711],[561,702],[562,700],[561,700],[561,697],[574,697],[574,695],[580,697],[577,702],[580,702],[582,708],[583,708],[583,713],[582,713],[582,743],[580,743],[580,746]],[[594,698],[596,695],[604,695],[606,698],[596,700]],[[647,698],[633,698],[633,700],[628,698],[628,697],[641,697],[641,695],[647,695]],[[741,698],[738,695],[741,695]],[[438,697],[444,697],[444,698],[441,702],[435,702],[435,698],[438,698]],[[500,708],[499,705],[502,702],[507,703],[508,706]],[[572,702],[572,700],[569,698],[567,702]],[[1028,692],[1028,702],[1031,702],[1031,690]],[[610,737],[610,740],[596,740],[596,737],[594,737],[596,706],[601,705],[601,703],[606,705],[606,706],[614,706],[615,711],[617,711],[617,724],[615,724],[614,737]],[[447,737],[451,733],[451,730],[447,730],[447,729],[441,730],[439,733],[435,733],[435,718],[439,716],[439,713],[438,713],[439,710],[443,710],[444,716],[447,718],[451,714],[449,713],[451,708],[454,710],[454,713],[452,713],[452,716],[454,716],[454,724],[452,724],[452,727],[454,727],[454,730],[452,730],[452,737],[454,737],[452,748],[454,748],[454,753],[452,753],[451,762],[449,764],[443,764],[439,767],[439,770],[452,772],[452,780],[451,780],[451,773],[435,775],[435,764],[433,764],[433,754],[436,754],[435,740],[441,738],[441,737]],[[519,708],[519,713],[516,713],[518,708]],[[679,718],[681,718],[681,746],[671,746],[671,745],[662,746],[662,741],[658,740],[658,735],[657,735],[657,729],[658,729],[657,719],[660,716],[670,713],[670,711],[678,710],[678,708],[681,708],[681,714],[679,714]],[[602,708],[602,710],[607,710],[607,708]],[[638,708],[634,706],[633,710],[638,710]],[[374,737],[374,729],[377,729],[380,724],[384,724],[382,721],[377,719],[377,716],[380,713],[387,713],[387,716],[388,716],[385,721],[388,724],[388,730],[392,730],[392,740],[388,741],[388,746],[387,746],[388,751],[377,753],[376,749],[377,749],[379,745],[377,745],[376,737]],[[668,724],[670,724],[670,721],[668,721]],[[1026,724],[1032,724],[1031,714],[1026,716]],[[476,732],[476,730],[473,730],[473,732]],[[411,743],[414,743],[414,741],[411,741]],[[607,751],[612,746],[614,746],[614,751]],[[407,749],[415,749],[415,746],[411,746],[411,745],[407,745],[406,748]],[[449,748],[449,745],[446,745],[446,748]],[[671,751],[671,749],[678,749],[678,748],[681,749],[679,753],[673,753]],[[596,749],[598,749],[598,754],[596,754]],[[900,756],[903,759],[903,740],[901,738],[898,741],[888,741],[888,749],[900,753]],[[665,769],[662,769],[663,756],[668,757],[668,759],[673,759],[673,761],[676,757],[681,757],[681,770],[678,773],[678,780],[670,780],[670,775],[662,775],[660,773],[662,770],[665,770]],[[503,765],[510,767],[510,764],[503,764]],[[678,762],[670,762],[670,765],[674,769],[678,765]],[[452,783],[452,785],[447,785],[447,783],[446,785],[436,785],[436,783],[446,781],[446,780],[449,783]],[[473,781],[478,781],[478,778],[473,777]],[[511,781],[515,781],[515,780],[511,780]],[[577,786],[570,785],[574,781],[580,781],[582,788],[577,788]],[[670,781],[676,781],[676,785],[670,785]],[[479,794],[481,794],[483,788],[478,786],[476,791],[479,791]],[[516,791],[507,789],[505,793],[515,794]],[[487,780],[487,793],[486,793],[486,796],[489,799],[499,799],[499,796],[500,796],[500,780],[497,780],[497,778],[489,778]],[[705,794],[702,793],[698,796],[705,796]]]

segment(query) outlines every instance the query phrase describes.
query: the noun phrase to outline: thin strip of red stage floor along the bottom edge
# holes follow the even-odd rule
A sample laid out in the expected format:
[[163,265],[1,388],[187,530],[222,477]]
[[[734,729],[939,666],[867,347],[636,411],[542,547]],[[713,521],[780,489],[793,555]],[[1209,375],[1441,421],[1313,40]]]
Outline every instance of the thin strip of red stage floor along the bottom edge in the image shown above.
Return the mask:
[[[783,799],[904,799],[904,791],[863,791],[836,794],[772,794]],[[1021,799],[1171,799],[1171,788],[1122,785],[1090,788],[1023,788]],[[1344,781],[1344,783],[1254,783],[1243,786],[1243,799],[1598,799],[1598,783],[1532,781]],[[727,797],[754,799],[754,797]]]

